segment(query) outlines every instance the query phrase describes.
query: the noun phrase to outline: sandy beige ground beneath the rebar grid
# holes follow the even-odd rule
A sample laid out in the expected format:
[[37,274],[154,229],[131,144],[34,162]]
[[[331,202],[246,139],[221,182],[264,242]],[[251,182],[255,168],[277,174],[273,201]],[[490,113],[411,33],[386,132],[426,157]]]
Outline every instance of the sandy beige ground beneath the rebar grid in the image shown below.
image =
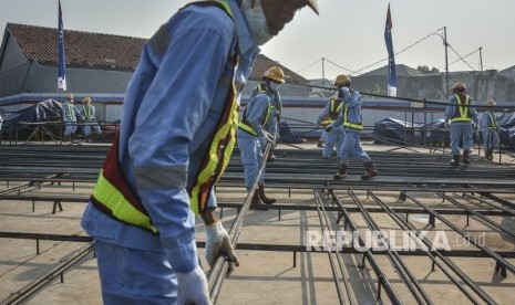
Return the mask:
[[[35,144],[24,145],[37,146]],[[86,146],[84,143],[74,146],[81,145]],[[87,144],[87,146],[94,147],[95,145]],[[401,234],[402,230],[392,220],[392,215],[373,210],[380,209],[380,204],[373,199],[373,196],[392,209],[420,209],[410,200],[410,196],[413,196],[424,207],[443,211],[439,215],[467,233],[467,236],[461,235],[445,222],[439,218],[431,218],[426,212],[399,212],[399,219],[406,220],[418,230],[428,231],[425,234],[428,240],[437,241],[441,245],[449,244],[451,251],[442,252],[449,254],[445,255],[446,259],[436,259],[436,261],[442,264],[444,260],[451,260],[452,265],[456,266],[466,277],[464,280],[453,275],[452,277],[457,283],[454,284],[445,275],[445,272],[450,272],[449,266],[444,267],[444,272],[421,253],[415,255],[400,251],[399,253],[402,255],[400,259],[395,259],[399,257],[398,254],[389,253],[389,250],[377,250],[373,252],[374,262],[380,266],[384,277],[388,278],[388,284],[398,299],[404,304],[452,303],[457,305],[474,302],[478,304],[513,304],[515,274],[509,267],[505,269],[502,264],[496,263],[496,260],[487,255],[485,257],[485,251],[477,249],[471,242],[473,240],[488,251],[501,253],[499,255],[508,264],[515,264],[513,256],[515,238],[511,234],[515,232],[513,208],[497,204],[491,199],[474,193],[473,190],[470,192],[455,191],[461,188],[459,183],[455,185],[457,187],[451,188],[451,191],[442,191],[451,199],[443,200],[439,190],[449,183],[455,183],[462,176],[464,180],[468,179],[472,185],[476,183],[486,190],[497,188],[498,185],[503,183],[509,185],[514,181],[515,176],[515,173],[509,176],[509,172],[515,170],[513,155],[509,151],[503,154],[501,162],[498,162],[498,155],[496,155],[496,158],[490,162],[478,156],[477,150],[474,150],[472,151],[471,165],[449,169],[451,173],[443,177],[425,178],[428,176],[423,173],[431,172],[435,166],[430,164],[421,166],[419,177],[413,173],[418,170],[418,162],[422,164],[422,161],[418,161],[418,158],[420,160],[434,158],[434,161],[439,164],[437,168],[449,168],[451,159],[449,148],[446,152],[443,152],[441,149],[433,151],[422,147],[398,147],[368,143],[363,144],[363,148],[374,159],[380,176],[372,181],[360,181],[359,175],[364,169],[353,160],[349,165],[349,177],[343,182],[333,182],[332,175],[338,170],[338,161],[334,157],[322,160],[321,148],[316,147],[316,143],[278,145],[277,159],[268,164],[270,175],[267,173],[266,178],[267,194],[276,198],[277,203],[269,210],[249,210],[246,214],[237,240],[240,266],[234,271],[231,277],[223,282],[216,303],[246,305],[395,303],[388,294],[385,286],[380,285],[379,277],[381,276],[378,276],[377,270],[373,269],[370,261],[364,260],[363,265],[364,252],[357,251],[356,246],[352,250],[352,244],[338,249],[341,250],[341,253],[325,251],[322,246],[319,246],[318,250],[307,249],[306,236],[311,238],[310,241],[316,248],[317,244],[322,245],[323,239],[317,238],[323,236],[326,230],[331,231],[334,228],[340,228],[343,231],[352,231],[349,229],[351,228],[350,223],[352,223],[364,239],[367,232],[371,231],[371,222],[367,222],[363,213],[360,212],[360,204],[356,203],[359,202],[370,212],[367,214],[371,217],[372,222],[387,232],[390,238],[389,244],[394,243],[402,246],[406,242]],[[6,146],[0,146],[0,155],[6,149]],[[395,160],[388,165],[389,168],[379,161],[381,156],[387,154],[389,158],[391,156]],[[406,156],[414,159],[410,161]],[[306,159],[302,160],[305,157]],[[2,157],[0,156],[0,158]],[[295,161],[292,161],[293,158]],[[40,160],[40,162],[45,162],[45,160]],[[240,160],[236,157],[231,162],[240,162]],[[282,170],[281,164],[287,162],[292,162],[292,166]],[[16,170],[16,166],[11,167],[7,160],[1,164],[9,170]],[[17,181],[8,178],[0,180],[1,196],[21,197],[20,199],[6,199],[0,196],[0,232],[25,234],[24,238],[20,239],[7,238],[6,235],[0,239],[0,304],[18,304],[18,302],[38,305],[102,304],[94,252],[90,252],[65,272],[60,273],[49,284],[38,288],[33,287],[37,286],[34,281],[44,277],[51,273],[50,271],[54,266],[62,264],[74,255],[75,251],[86,246],[89,244],[86,240],[78,242],[49,238],[37,241],[35,238],[28,236],[30,233],[35,233],[85,238],[86,234],[82,230],[80,221],[94,182],[87,180],[84,182],[47,182],[24,188],[21,191],[7,192],[7,190],[12,190],[30,181],[30,172],[22,172],[23,168],[30,170],[31,166],[19,165],[20,176],[25,177],[25,180]],[[312,170],[310,170],[311,168]],[[505,178],[491,179],[485,176],[499,169],[507,172]],[[411,173],[404,175],[403,171]],[[467,172],[475,173],[466,175]],[[14,175],[6,173],[4,176],[13,177]],[[238,217],[247,194],[243,181],[238,181],[241,172],[236,169],[229,171],[227,177],[227,181],[223,179],[216,190],[218,201],[223,203],[222,208],[218,209],[219,217],[224,227],[229,230]],[[425,179],[428,179],[426,182]],[[437,182],[439,180],[441,182]],[[296,183],[296,181],[302,181],[302,183]],[[464,186],[466,183],[467,181],[463,181]],[[425,192],[424,186],[431,191]],[[508,187],[498,188],[502,191],[496,193],[497,197],[506,202],[515,202],[515,193],[503,191]],[[402,196],[402,190],[408,190],[408,197]],[[30,200],[31,196],[38,197],[40,200],[32,201]],[[56,203],[55,201],[44,201],[41,199],[42,197],[56,199],[76,197],[80,200],[75,202],[62,200],[62,202]],[[348,208],[346,211],[350,215],[350,220],[347,220],[346,214],[341,213],[341,209],[338,209],[334,197]],[[444,213],[445,209],[460,210],[459,204],[452,203],[453,199],[474,211],[481,211],[481,213],[493,211],[491,214],[484,213],[491,222],[471,214],[471,212]],[[200,222],[199,220],[197,223],[199,242],[204,241]],[[503,230],[499,231],[492,222],[498,224]],[[442,232],[444,232],[443,235],[439,235]],[[456,256],[451,253],[455,253]],[[203,269],[208,272],[209,267],[204,259],[202,248],[199,254]],[[392,261],[401,261],[406,269],[402,271]],[[413,276],[414,281],[403,280],[403,276]],[[467,286],[466,281],[472,282],[474,287],[486,295],[486,299],[480,297],[473,288]],[[416,290],[414,287],[416,285],[420,285],[421,288]],[[35,292],[27,298],[18,297],[27,293],[28,287]],[[413,293],[412,288],[418,292]],[[466,297],[466,294],[472,295],[472,297]]]

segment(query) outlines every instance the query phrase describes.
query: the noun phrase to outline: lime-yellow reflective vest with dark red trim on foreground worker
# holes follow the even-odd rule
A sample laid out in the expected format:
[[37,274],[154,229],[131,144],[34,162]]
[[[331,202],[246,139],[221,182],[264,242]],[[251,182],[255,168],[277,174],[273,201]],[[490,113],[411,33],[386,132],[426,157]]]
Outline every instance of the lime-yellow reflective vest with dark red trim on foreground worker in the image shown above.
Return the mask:
[[[222,8],[233,19],[230,7],[225,0],[192,2],[190,4],[215,4]],[[228,59],[234,64],[231,87],[228,93],[224,113],[212,138],[209,150],[204,156],[195,185],[189,194],[189,208],[198,215],[204,212],[213,186],[226,169],[236,144],[236,128],[238,127],[238,101],[236,93],[236,71],[238,69],[238,41],[235,54]],[[116,134],[113,146],[104,161],[97,182],[93,189],[91,202],[106,214],[133,225],[157,233],[141,199],[128,186],[119,161],[119,136]]]

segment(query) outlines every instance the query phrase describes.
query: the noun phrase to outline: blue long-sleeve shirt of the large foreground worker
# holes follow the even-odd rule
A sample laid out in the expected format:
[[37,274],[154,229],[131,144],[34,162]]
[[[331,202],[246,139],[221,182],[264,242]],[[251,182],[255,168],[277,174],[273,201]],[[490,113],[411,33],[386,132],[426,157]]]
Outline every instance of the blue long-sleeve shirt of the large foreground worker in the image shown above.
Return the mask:
[[[164,25],[166,31],[159,29],[145,43],[125,94],[119,159],[159,231],[159,242],[150,238],[151,232],[116,220],[110,225],[117,228],[117,235],[96,232],[96,238],[115,239],[124,246],[164,248],[177,272],[189,272],[198,264],[187,190],[226,105],[234,70],[228,55],[239,38],[236,87],[240,88],[259,52],[236,0],[228,2],[235,22],[213,6],[188,6],[173,15]],[[102,217],[89,208],[86,213]]]

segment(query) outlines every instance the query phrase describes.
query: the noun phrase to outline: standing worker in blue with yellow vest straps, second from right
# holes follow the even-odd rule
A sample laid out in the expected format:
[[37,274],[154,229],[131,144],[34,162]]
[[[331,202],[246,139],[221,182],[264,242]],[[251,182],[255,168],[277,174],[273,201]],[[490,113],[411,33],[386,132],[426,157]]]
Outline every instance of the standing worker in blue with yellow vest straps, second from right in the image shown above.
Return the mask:
[[445,107],[445,126],[451,122],[451,166],[460,165],[460,140],[463,139],[463,164],[470,164],[468,155],[472,148],[472,123],[477,127],[477,112],[472,97],[466,93],[465,84],[457,82],[452,86]]

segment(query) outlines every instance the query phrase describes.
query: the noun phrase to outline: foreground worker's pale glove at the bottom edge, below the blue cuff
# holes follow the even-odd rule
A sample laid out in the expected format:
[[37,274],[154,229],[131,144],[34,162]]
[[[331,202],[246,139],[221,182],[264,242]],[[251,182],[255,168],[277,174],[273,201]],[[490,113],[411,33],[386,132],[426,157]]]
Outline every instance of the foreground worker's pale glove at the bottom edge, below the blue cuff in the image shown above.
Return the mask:
[[190,272],[177,272],[177,304],[212,304],[206,274],[199,265]]

